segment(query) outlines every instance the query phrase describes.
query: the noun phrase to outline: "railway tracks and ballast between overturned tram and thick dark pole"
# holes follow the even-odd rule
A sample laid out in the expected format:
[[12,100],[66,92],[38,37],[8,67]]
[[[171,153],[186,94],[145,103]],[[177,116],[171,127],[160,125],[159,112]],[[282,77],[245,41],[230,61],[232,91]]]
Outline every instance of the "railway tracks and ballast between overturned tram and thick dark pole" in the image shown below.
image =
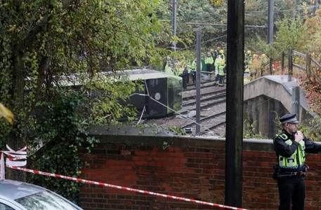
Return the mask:
[[[201,85],[200,132],[199,136],[223,136],[225,134],[226,89],[213,86],[214,81],[206,80]],[[182,109],[174,116],[148,119],[145,123],[166,127],[182,127],[190,135],[196,130],[196,89],[192,84],[182,92]]]

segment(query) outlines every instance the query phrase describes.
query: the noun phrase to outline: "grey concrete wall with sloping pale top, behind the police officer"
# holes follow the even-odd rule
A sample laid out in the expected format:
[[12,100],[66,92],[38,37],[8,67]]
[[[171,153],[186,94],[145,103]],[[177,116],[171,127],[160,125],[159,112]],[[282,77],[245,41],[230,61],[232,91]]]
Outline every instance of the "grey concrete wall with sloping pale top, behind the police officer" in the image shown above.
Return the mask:
[[[263,76],[244,85],[244,116],[256,123],[256,133],[275,136],[277,118],[292,113],[292,87],[298,85],[295,78],[284,75]],[[300,87],[299,120],[303,122],[314,115]]]

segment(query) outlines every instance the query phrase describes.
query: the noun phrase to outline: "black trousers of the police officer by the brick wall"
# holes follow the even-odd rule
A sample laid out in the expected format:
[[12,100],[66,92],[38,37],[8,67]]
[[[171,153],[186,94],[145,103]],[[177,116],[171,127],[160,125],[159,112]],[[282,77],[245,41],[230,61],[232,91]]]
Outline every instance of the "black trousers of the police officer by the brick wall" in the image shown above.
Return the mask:
[[306,200],[306,184],[303,176],[283,177],[277,179],[279,188],[279,210],[303,210]]

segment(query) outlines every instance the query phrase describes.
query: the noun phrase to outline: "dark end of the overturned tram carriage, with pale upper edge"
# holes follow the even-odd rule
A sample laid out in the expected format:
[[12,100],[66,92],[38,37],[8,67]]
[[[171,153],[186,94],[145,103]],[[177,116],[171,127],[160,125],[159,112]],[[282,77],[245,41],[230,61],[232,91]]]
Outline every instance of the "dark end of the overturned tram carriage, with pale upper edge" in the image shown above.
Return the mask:
[[[130,80],[140,80],[143,90],[136,88],[129,103],[138,110],[143,118],[171,116],[182,109],[182,78],[150,69],[124,71]],[[144,111],[145,110],[145,111]]]

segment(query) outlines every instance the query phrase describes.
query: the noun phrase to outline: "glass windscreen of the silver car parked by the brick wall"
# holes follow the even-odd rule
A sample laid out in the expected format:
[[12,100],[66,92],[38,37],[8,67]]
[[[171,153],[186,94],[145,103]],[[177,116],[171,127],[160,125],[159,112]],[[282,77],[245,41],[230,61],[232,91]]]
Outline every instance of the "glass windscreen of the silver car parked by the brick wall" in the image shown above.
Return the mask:
[[29,195],[27,197],[21,197],[16,202],[22,204],[23,207],[29,210],[70,210],[75,209],[72,204],[58,197],[54,193],[49,191],[43,191],[41,193],[36,193]]

